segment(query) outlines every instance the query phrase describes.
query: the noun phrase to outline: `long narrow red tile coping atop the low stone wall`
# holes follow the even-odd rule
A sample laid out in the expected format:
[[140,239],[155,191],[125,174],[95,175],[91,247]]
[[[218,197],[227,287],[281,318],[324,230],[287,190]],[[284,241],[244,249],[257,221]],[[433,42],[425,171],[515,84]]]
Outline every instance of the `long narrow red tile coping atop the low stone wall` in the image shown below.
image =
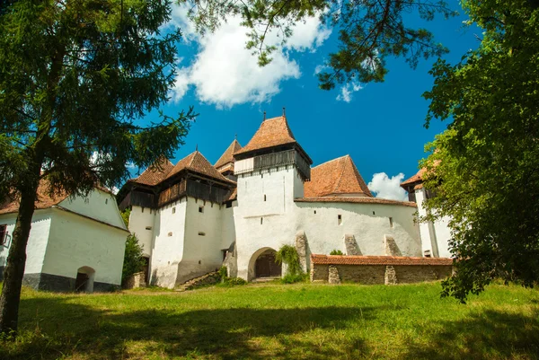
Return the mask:
[[343,256],[311,254],[314,265],[434,265],[451,266],[449,258],[414,258],[405,256]]

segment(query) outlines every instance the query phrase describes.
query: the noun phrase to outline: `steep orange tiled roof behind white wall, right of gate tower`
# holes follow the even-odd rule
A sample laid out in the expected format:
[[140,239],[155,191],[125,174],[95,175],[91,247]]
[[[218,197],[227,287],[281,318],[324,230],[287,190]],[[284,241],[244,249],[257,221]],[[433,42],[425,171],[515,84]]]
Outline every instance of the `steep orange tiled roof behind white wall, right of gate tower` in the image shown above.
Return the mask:
[[331,194],[364,194],[372,198],[367,184],[349,155],[324,162],[311,169],[311,181],[305,182],[305,198]]

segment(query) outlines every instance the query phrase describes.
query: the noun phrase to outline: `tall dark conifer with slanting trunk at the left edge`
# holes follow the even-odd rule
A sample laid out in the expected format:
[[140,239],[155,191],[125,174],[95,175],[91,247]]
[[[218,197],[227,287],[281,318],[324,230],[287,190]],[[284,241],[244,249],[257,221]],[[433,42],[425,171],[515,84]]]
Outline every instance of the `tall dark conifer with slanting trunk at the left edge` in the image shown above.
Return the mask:
[[20,202],[0,297],[8,332],[40,180],[51,194],[119,185],[126,163],[172,157],[195,114],[137,123],[168,100],[174,79],[181,33],[160,33],[169,1],[18,0],[1,10],[0,201]]

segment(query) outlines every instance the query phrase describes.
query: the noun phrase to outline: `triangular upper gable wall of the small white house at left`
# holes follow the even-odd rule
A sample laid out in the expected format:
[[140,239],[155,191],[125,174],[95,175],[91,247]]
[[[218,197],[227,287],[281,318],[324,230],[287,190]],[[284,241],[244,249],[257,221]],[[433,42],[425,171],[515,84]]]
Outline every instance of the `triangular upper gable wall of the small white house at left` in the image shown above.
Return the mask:
[[58,206],[100,220],[103,223],[126,229],[116,205],[116,198],[100,189],[94,189],[86,198],[66,198]]

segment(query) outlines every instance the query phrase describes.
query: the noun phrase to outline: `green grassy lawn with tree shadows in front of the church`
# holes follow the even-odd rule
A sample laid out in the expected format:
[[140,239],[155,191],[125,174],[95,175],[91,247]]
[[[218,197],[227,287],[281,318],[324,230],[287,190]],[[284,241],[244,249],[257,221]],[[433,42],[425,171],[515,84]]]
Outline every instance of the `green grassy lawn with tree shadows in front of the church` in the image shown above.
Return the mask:
[[539,292],[491,285],[245,285],[186,293],[24,289],[1,359],[537,359]]

